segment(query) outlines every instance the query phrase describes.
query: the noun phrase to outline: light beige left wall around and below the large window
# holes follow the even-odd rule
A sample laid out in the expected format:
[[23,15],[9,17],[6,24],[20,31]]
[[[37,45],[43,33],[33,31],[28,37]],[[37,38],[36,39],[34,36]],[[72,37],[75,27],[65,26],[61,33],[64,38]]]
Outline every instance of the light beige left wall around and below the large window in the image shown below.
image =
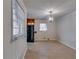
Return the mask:
[[3,58],[21,59],[24,50],[27,50],[27,43],[24,37],[18,37],[18,40],[11,42],[11,0],[4,0],[3,2]]

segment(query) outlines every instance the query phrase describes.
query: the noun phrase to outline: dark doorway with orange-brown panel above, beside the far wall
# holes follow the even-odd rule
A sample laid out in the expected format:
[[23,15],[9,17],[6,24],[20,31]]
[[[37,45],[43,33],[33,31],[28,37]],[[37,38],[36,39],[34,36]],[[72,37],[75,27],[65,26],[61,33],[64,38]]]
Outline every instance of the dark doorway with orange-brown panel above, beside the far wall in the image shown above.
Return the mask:
[[27,19],[27,42],[34,42],[34,19]]

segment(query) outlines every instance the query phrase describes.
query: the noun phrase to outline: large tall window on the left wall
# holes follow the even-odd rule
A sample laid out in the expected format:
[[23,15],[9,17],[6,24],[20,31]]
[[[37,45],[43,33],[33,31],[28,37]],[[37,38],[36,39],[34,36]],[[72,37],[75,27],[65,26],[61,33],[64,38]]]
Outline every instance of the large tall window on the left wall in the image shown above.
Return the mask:
[[24,35],[25,14],[17,0],[12,0],[12,40]]

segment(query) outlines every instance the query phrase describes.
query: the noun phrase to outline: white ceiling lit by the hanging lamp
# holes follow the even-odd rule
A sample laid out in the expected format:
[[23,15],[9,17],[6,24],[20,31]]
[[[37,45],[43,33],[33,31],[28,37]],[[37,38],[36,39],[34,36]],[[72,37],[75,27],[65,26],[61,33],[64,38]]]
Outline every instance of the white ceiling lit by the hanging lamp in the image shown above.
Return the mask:
[[44,19],[53,10],[53,16],[59,17],[76,9],[75,0],[24,0],[28,18]]

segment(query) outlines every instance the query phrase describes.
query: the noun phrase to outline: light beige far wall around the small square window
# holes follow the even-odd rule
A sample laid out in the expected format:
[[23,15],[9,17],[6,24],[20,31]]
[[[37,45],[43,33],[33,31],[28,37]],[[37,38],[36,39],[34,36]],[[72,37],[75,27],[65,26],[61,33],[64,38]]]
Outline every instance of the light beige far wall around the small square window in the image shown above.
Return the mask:
[[[40,23],[47,24],[46,32],[39,31]],[[37,33],[35,34],[35,40],[55,40],[55,21],[53,23],[50,23],[48,20],[37,19],[35,22],[35,31],[37,31]]]

